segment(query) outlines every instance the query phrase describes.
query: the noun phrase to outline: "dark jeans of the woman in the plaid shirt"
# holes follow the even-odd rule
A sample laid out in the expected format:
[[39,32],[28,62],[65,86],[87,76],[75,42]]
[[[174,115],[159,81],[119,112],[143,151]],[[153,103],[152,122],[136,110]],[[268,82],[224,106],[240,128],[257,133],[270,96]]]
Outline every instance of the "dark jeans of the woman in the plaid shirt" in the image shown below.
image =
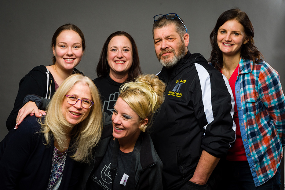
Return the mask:
[[229,162],[224,165],[224,187],[230,190],[280,190],[280,167],[276,174],[264,184],[255,187],[250,167],[247,161]]

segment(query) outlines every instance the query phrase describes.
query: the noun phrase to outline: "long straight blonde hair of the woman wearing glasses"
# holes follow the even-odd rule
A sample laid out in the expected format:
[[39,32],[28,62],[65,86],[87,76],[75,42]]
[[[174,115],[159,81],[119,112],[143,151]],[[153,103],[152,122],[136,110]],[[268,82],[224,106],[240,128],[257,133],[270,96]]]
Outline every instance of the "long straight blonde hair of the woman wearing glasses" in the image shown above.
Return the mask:
[[76,83],[82,83],[83,85],[89,86],[94,104],[89,108],[91,110],[87,118],[74,126],[71,130],[71,158],[76,161],[88,163],[90,159],[92,159],[90,151],[96,146],[102,133],[101,99],[99,92],[91,79],[80,74],[74,74],[65,79],[54,93],[47,108],[47,115],[45,116],[44,121],[40,121],[40,124],[47,145],[50,145],[53,138],[54,141],[57,142],[59,149],[66,148],[66,145],[68,144],[66,129],[68,127],[72,128],[72,126],[64,118],[61,108],[63,101],[66,101],[66,93],[68,93]]

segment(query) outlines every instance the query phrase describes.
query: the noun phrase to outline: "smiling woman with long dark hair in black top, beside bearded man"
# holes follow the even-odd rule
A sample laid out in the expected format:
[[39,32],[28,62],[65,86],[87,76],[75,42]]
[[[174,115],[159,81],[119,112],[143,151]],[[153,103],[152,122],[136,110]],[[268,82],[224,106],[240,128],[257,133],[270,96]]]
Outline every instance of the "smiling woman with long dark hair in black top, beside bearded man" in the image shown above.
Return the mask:
[[120,86],[141,74],[137,46],[132,36],[116,31],[106,39],[96,68],[98,78],[93,82],[102,95],[103,111],[113,113]]

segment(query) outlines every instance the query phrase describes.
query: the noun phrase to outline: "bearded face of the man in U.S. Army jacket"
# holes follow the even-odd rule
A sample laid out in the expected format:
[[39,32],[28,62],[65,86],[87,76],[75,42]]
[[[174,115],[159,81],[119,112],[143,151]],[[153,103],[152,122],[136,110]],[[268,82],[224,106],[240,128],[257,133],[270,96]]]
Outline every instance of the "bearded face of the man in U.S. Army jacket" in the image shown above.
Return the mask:
[[153,39],[156,56],[166,68],[174,66],[187,53],[189,35],[186,33],[182,41],[174,24],[156,28]]

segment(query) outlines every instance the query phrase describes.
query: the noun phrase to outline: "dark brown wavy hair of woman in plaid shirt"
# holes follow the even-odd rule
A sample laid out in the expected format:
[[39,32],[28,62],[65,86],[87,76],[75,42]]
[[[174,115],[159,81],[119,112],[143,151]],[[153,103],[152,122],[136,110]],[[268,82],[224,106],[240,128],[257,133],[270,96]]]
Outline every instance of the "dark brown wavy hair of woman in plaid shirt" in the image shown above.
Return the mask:
[[220,70],[223,66],[222,52],[217,44],[217,33],[221,25],[228,20],[236,20],[243,25],[245,37],[248,39],[248,42],[243,44],[241,47],[241,57],[243,59],[253,60],[254,64],[258,61],[262,61],[261,57],[263,58],[263,55],[260,53],[260,51],[258,51],[257,47],[254,46],[254,28],[247,16],[247,13],[241,11],[240,9],[230,9],[219,16],[217,23],[210,34],[212,51],[209,62],[218,70]]

